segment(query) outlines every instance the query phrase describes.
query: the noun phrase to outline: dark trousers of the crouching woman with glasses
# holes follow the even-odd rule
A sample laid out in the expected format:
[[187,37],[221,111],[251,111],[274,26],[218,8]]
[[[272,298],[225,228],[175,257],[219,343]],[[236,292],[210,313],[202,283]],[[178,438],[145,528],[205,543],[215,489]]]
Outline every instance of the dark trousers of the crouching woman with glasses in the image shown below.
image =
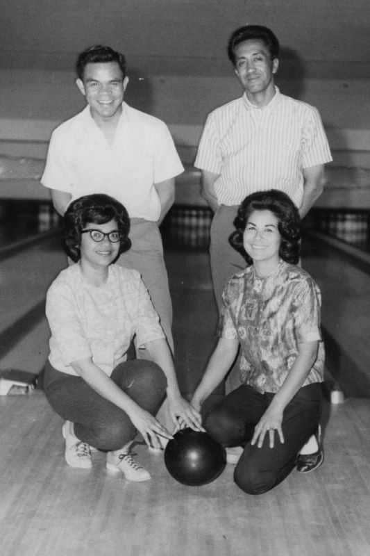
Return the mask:
[[[167,379],[162,369],[144,359],[120,363],[110,378],[142,409],[155,415],[165,398]],[[128,415],[101,395],[81,377],[60,373],[49,361],[44,373],[44,391],[51,407],[74,423],[78,439],[99,448],[119,450],[135,438]]]

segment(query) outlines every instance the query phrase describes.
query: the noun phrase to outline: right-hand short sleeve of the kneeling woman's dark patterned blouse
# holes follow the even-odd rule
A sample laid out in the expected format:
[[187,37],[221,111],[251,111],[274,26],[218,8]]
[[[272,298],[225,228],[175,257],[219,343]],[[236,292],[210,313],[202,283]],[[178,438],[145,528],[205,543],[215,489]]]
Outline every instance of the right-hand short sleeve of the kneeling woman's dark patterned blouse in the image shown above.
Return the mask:
[[305,279],[294,291],[292,313],[298,343],[321,341],[321,293],[312,279]]

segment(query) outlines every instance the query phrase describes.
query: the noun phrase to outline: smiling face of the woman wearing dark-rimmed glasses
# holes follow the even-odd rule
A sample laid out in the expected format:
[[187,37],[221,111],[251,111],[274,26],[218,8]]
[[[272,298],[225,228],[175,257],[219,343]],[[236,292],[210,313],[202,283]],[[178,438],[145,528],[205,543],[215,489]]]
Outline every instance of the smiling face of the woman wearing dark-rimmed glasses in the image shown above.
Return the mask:
[[[94,222],[88,222],[84,230],[99,230],[104,234],[109,234],[111,231],[118,231],[117,222],[115,219],[106,222],[106,224],[94,224]],[[107,236],[103,240],[96,242],[92,239],[89,233],[81,234],[81,266],[82,268],[94,268],[102,269],[108,268],[110,263],[112,263],[118,253],[119,253],[119,241],[117,243],[112,243]]]

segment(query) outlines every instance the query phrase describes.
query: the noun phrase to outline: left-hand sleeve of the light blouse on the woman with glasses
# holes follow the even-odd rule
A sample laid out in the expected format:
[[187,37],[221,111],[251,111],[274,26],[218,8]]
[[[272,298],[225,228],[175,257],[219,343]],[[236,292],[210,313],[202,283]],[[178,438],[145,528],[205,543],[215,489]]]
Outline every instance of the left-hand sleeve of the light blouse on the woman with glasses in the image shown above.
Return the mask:
[[92,357],[78,318],[74,295],[67,284],[51,284],[47,292],[46,313],[51,329],[51,345],[56,345],[66,366],[72,361]]

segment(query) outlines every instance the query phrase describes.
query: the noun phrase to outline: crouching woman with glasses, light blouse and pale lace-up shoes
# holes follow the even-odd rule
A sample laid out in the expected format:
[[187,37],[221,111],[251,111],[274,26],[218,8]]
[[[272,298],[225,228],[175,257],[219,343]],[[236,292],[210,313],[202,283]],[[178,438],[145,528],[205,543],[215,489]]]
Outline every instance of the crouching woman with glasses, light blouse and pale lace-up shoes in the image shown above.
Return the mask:
[[[90,468],[90,446],[104,450],[107,468],[128,480],[150,478],[129,448],[139,431],[152,448],[171,438],[154,415],[167,393],[177,423],[201,429],[184,400],[171,352],[136,270],[111,264],[131,247],[124,206],[108,195],[76,199],[65,213],[65,247],[76,263],[62,270],[47,293],[51,329],[44,390],[65,419],[65,459]],[[128,347],[146,348],[151,361],[127,361]],[[159,437],[159,438],[158,438]]]

